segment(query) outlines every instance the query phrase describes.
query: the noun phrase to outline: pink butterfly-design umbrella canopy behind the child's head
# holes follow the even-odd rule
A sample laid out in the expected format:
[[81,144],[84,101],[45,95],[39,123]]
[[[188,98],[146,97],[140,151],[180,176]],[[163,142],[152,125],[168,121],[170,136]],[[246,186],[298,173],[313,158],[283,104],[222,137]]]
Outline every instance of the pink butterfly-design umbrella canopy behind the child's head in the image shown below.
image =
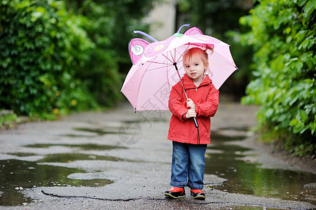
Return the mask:
[[212,72],[208,76],[218,90],[231,73],[238,69],[231,56],[230,46],[202,34],[197,27],[191,27],[184,34],[177,32],[164,41],[149,43],[142,38],[133,38],[129,43],[133,65],[121,92],[135,111],[168,110],[170,90],[179,82],[179,75],[185,73],[182,64],[184,52],[189,48],[203,49],[205,45],[214,50],[207,50],[209,70]]

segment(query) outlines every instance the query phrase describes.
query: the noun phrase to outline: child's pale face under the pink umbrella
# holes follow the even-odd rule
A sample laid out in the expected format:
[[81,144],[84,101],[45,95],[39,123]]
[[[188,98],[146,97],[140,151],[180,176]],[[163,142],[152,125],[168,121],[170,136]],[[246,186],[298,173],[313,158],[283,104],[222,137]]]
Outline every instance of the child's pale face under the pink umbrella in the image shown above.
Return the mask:
[[202,59],[198,53],[194,53],[191,60],[188,57],[184,59],[184,69],[186,70],[186,75],[192,78],[193,82],[202,81],[204,71],[207,69],[207,65],[204,65]]

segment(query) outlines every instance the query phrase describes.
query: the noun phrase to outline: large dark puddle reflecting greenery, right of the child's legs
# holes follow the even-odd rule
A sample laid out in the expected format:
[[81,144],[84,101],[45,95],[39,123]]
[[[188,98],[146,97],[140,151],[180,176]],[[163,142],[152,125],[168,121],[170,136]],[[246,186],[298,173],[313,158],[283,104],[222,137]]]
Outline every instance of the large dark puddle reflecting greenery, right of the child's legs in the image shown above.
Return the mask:
[[228,193],[277,197],[282,200],[305,201],[316,204],[315,189],[304,188],[308,183],[315,183],[316,176],[307,172],[293,172],[282,169],[262,169],[259,164],[238,160],[245,157],[242,152],[249,151],[240,146],[224,144],[233,141],[230,137],[212,136],[209,148],[222,153],[207,153],[205,174],[217,174],[228,179],[218,190]]

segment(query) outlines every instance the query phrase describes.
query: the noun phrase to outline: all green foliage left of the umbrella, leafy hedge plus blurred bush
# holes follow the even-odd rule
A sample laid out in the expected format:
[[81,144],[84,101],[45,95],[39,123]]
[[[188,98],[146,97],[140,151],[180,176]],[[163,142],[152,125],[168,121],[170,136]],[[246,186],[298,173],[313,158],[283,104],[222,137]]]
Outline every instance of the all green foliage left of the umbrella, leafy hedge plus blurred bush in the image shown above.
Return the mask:
[[151,2],[0,0],[0,109],[50,119],[113,106]]

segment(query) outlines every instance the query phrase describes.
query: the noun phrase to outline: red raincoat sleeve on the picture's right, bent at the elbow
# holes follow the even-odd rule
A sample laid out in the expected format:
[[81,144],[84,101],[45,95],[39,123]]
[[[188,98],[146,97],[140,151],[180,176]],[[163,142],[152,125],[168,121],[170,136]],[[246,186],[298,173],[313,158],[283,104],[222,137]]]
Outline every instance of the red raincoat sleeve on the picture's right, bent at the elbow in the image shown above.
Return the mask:
[[211,83],[207,98],[203,103],[195,103],[195,112],[198,116],[214,117],[219,106],[219,90]]

